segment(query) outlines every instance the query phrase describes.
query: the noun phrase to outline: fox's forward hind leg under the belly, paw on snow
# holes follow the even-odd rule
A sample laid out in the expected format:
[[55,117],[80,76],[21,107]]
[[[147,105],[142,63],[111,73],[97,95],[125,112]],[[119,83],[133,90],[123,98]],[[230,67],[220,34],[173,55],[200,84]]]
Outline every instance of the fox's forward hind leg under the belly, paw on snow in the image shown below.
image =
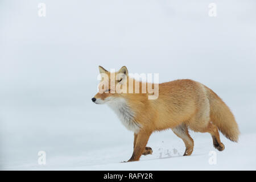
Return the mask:
[[183,123],[179,126],[174,127],[172,131],[174,131],[177,137],[181,138],[185,144],[186,149],[184,152],[184,156],[191,155],[193,152],[194,141],[188,133],[188,127]]

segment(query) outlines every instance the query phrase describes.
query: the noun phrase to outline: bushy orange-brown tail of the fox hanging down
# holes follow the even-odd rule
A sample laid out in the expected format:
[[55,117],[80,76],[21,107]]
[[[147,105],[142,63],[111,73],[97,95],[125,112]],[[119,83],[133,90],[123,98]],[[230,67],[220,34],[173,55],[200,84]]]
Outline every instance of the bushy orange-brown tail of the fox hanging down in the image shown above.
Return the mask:
[[[207,88],[207,86],[205,86]],[[210,119],[218,127],[226,138],[233,142],[238,141],[240,131],[234,115],[229,107],[217,96],[211,89],[207,88],[208,98],[210,101]]]

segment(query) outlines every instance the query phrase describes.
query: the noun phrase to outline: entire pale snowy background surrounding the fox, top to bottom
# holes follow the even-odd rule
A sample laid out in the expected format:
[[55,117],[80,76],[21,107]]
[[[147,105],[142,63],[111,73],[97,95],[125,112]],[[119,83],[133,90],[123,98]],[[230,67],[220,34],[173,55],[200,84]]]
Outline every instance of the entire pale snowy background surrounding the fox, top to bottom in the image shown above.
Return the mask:
[[[256,169],[256,1],[216,0],[216,17],[205,0],[45,0],[46,17],[40,2],[0,2],[0,169]],[[219,152],[209,134],[192,132],[183,157],[181,139],[162,131],[150,137],[152,155],[121,163],[133,133],[92,103],[98,65],[202,82],[233,111],[240,141],[221,135]]]

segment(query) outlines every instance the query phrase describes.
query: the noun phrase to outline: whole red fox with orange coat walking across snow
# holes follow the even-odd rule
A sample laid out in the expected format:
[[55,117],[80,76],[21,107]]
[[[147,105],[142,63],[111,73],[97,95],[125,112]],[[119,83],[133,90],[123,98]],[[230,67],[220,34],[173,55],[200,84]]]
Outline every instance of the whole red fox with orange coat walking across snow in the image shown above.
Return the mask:
[[[194,145],[188,129],[210,133],[213,146],[219,151],[225,147],[221,143],[218,130],[233,142],[238,141],[240,131],[229,107],[216,93],[200,82],[164,82],[157,85],[158,90],[154,91],[158,92],[158,98],[149,100],[148,96],[152,93],[148,92],[148,88],[143,93],[143,82],[130,78],[126,67],[115,73],[110,73],[101,66],[99,69],[101,75],[106,75],[102,77],[99,85],[99,89],[102,89],[102,85],[105,84],[105,92],[97,93],[92,101],[95,104],[108,104],[123,125],[134,132],[133,155],[128,162],[139,160],[141,155],[152,154],[151,147],[146,147],[146,144],[154,131],[171,129],[183,140],[184,155],[191,155]],[[113,74],[114,80],[111,79]],[[122,76],[118,78],[119,74]],[[139,85],[139,93],[134,93],[134,85]],[[121,88],[122,91],[128,91],[130,86],[133,86],[133,93],[120,93],[117,90]]]

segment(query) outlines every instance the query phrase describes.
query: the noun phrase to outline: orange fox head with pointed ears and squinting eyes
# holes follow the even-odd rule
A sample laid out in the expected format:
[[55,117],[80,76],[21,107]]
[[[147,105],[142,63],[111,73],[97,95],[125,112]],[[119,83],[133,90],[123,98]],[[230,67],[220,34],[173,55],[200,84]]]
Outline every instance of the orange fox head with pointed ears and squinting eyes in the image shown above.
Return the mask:
[[92,98],[95,104],[105,104],[117,99],[120,94],[127,92],[128,70],[125,66],[118,72],[110,73],[99,66],[101,81],[98,85],[99,92]]

